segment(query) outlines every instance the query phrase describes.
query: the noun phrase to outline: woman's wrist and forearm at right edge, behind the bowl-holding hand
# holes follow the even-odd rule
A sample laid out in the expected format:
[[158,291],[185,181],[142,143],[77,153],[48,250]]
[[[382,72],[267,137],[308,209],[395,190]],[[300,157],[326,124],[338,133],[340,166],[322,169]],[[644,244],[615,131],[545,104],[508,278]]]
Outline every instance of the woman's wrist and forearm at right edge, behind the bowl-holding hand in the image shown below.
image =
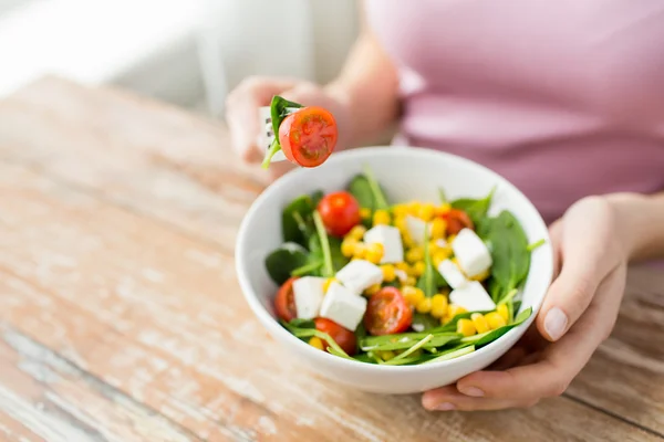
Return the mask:
[[616,229],[630,261],[664,259],[664,192],[606,197],[615,211]]

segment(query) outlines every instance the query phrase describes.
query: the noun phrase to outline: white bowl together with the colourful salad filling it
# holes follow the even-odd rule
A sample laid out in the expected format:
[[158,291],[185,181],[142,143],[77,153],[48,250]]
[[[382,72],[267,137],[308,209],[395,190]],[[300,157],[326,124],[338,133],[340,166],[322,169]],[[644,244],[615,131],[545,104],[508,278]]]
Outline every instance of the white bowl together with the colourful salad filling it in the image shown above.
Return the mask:
[[371,147],[268,187],[236,265],[256,316],[303,364],[359,390],[412,393],[504,355],[535,319],[553,259],[546,223],[502,177]]

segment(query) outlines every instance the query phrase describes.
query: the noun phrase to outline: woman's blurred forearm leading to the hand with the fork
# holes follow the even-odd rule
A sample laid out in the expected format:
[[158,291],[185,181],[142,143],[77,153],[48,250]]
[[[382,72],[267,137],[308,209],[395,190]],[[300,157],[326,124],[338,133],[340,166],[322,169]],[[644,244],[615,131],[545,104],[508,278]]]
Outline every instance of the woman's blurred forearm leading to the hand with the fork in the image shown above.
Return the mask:
[[325,91],[349,112],[347,147],[375,141],[396,122],[396,69],[366,22],[341,74]]

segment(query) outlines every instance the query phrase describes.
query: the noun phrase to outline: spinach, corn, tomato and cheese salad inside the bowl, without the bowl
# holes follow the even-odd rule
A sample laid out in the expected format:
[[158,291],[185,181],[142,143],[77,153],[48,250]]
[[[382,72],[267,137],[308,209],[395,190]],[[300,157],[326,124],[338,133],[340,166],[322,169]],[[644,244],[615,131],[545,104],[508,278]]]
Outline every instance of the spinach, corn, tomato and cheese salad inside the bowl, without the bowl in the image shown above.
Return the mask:
[[281,325],[322,351],[394,366],[498,339],[532,313],[517,294],[543,241],[528,244],[509,211],[488,215],[492,194],[392,203],[365,169],[345,190],[295,198],[266,259]]

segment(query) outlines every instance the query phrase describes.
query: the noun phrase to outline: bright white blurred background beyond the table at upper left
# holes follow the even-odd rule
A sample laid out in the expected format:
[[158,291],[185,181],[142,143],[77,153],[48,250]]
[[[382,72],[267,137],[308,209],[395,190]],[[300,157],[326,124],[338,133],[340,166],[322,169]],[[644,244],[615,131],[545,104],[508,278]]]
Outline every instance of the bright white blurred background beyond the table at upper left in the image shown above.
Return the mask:
[[221,116],[248,75],[326,82],[356,0],[0,0],[0,98],[54,74]]

